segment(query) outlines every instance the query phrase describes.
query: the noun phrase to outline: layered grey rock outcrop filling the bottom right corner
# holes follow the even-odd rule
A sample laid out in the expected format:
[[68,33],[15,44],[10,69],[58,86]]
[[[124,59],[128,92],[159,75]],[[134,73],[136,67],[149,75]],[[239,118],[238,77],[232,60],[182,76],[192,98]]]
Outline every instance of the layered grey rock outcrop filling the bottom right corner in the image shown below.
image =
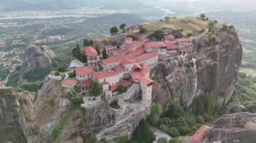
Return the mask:
[[256,142],[256,114],[234,113],[216,120],[214,128],[205,133],[203,143]]

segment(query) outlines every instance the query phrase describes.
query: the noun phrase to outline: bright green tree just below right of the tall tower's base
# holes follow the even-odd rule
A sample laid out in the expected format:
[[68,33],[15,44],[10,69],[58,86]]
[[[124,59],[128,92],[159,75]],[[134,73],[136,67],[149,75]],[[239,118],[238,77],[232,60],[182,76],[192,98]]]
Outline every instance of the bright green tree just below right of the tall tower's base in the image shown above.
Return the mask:
[[161,113],[162,113],[161,105],[158,103],[152,103],[151,104],[151,112],[148,117],[148,122],[150,122],[150,124],[156,125]]

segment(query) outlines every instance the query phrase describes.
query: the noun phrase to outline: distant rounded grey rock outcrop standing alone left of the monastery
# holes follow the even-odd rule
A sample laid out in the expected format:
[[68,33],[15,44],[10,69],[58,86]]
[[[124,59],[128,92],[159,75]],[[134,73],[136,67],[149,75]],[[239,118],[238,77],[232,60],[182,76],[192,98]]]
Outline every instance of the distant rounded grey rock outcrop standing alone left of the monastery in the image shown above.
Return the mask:
[[36,67],[45,68],[51,66],[55,53],[49,48],[49,46],[36,46],[30,45],[25,50],[25,56],[22,63],[22,67],[19,70],[19,83],[26,81],[23,79],[24,73],[32,70]]

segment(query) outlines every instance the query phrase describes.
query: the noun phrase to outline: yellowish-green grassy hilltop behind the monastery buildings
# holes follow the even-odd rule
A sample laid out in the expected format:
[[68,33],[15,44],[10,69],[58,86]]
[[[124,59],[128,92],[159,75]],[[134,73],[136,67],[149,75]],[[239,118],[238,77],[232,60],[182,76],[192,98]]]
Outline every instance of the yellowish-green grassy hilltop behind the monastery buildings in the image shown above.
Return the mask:
[[195,33],[200,31],[202,28],[206,29],[208,27],[209,21],[202,21],[196,19],[195,17],[185,17],[185,18],[175,18],[167,19],[163,21],[155,21],[150,23],[143,23],[142,26],[147,28],[147,33],[154,32],[156,30],[162,30],[163,32],[168,32],[168,30],[183,30],[181,32],[183,35],[189,33]]

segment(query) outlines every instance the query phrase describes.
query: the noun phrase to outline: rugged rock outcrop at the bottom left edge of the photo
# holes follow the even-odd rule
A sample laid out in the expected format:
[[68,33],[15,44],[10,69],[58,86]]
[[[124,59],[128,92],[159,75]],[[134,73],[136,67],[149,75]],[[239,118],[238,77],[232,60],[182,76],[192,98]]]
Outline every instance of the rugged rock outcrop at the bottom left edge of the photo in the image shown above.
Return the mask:
[[27,142],[31,99],[28,92],[18,94],[13,88],[0,87],[1,142]]

